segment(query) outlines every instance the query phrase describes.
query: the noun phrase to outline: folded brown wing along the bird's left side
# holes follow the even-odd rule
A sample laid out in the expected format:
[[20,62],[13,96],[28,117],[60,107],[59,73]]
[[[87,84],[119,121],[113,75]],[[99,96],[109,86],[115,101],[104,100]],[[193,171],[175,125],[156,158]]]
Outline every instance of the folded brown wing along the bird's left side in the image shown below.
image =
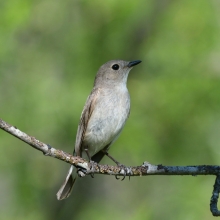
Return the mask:
[[95,103],[97,101],[97,98],[100,93],[100,88],[95,88],[92,90],[91,94],[86,100],[86,104],[83,108],[80,122],[77,129],[77,135],[76,135],[76,143],[75,143],[75,153],[77,156],[82,156],[82,142],[84,140],[84,135],[87,129],[87,125],[89,122],[89,119],[92,115],[92,112],[95,108]]

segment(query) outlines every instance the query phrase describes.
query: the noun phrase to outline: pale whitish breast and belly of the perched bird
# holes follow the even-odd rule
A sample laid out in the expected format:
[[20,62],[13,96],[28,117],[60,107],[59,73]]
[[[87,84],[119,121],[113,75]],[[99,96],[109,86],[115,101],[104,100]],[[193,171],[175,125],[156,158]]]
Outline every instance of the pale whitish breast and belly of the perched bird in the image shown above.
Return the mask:
[[115,141],[129,111],[130,97],[126,87],[100,92],[83,141],[91,156]]

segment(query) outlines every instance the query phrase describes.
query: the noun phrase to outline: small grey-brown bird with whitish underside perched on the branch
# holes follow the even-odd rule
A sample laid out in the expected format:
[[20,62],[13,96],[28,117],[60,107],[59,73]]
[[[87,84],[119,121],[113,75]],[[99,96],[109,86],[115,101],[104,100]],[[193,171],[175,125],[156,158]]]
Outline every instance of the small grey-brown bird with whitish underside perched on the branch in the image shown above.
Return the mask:
[[[108,155],[109,147],[118,138],[128,119],[130,95],[126,86],[127,78],[132,67],[139,63],[140,60],[111,60],[100,67],[81,114],[74,156],[89,157],[89,160],[99,163]],[[58,200],[69,197],[76,178],[77,169],[71,166],[57,192]]]

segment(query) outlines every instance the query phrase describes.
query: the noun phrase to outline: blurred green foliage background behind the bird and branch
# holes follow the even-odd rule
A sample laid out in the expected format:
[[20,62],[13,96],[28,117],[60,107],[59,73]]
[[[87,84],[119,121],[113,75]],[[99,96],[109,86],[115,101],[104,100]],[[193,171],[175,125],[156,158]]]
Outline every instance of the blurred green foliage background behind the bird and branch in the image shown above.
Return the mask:
[[[111,155],[126,165],[220,165],[219,9],[219,0],[1,1],[0,118],[72,152],[98,68],[140,59]],[[96,175],[58,202],[68,168],[0,131],[0,219],[214,218],[214,176]]]

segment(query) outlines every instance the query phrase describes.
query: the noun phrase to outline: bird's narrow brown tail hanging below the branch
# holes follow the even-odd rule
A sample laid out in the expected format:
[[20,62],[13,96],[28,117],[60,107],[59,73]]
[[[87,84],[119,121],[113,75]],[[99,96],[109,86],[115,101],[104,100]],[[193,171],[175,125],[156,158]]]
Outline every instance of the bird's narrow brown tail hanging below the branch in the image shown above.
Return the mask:
[[57,192],[58,200],[66,199],[69,197],[69,195],[72,192],[73,185],[76,181],[76,177],[77,177],[76,168],[74,166],[71,166],[67,173],[64,183]]

